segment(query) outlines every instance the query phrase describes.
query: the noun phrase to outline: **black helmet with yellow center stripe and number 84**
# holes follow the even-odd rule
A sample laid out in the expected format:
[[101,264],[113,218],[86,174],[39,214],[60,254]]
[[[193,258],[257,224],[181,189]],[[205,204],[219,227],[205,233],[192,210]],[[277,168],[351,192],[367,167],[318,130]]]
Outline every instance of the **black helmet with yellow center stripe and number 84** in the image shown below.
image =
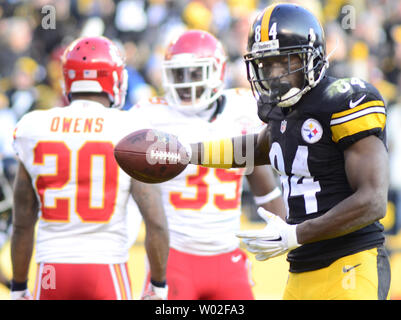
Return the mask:
[[[271,106],[290,107],[316,86],[328,67],[323,28],[318,19],[307,9],[289,3],[273,4],[255,19],[248,36],[247,53],[244,55],[248,81],[259,108]],[[300,67],[291,70],[291,58],[301,59]],[[287,73],[271,76],[271,59],[287,56]],[[284,58],[284,57],[283,57]],[[293,60],[294,61],[294,60]],[[287,64],[287,62],[286,62]],[[303,84],[295,88],[285,79],[302,72]],[[262,110],[259,110],[261,117]],[[261,117],[263,119],[263,115]]]

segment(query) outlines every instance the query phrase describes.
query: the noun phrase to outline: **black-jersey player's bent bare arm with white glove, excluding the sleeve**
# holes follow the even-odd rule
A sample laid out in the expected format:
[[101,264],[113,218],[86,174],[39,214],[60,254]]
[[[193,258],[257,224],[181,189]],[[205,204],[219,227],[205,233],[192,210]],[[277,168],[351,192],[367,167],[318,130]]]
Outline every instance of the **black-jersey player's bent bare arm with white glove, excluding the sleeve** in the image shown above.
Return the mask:
[[361,229],[386,213],[388,159],[383,142],[375,135],[362,138],[344,152],[345,172],[354,193],[314,219],[290,225],[263,208],[267,223],[262,230],[237,233],[256,260],[266,260],[302,244],[339,237]]

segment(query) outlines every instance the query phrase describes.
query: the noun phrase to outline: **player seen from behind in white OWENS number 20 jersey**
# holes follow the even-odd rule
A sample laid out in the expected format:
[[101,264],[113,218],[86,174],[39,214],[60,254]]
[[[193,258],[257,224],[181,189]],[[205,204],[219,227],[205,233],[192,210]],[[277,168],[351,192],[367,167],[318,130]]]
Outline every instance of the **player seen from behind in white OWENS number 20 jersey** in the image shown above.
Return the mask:
[[[125,62],[105,37],[81,38],[63,56],[70,105],[26,114],[17,124],[11,258],[12,298],[29,298],[27,277],[38,219],[36,299],[131,299],[126,204],[143,215],[152,280],[165,298],[168,230],[160,191],[117,165],[114,145],[146,121],[118,107]],[[161,285],[160,285],[161,284]]]

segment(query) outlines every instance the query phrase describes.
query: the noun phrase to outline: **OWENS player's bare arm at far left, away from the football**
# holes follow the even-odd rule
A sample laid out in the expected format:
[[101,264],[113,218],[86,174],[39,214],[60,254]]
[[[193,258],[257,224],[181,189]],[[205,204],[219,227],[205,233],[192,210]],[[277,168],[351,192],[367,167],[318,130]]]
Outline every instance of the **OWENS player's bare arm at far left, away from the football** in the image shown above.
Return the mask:
[[[38,201],[31,177],[22,162],[18,163],[14,182],[13,232],[11,236],[11,262],[13,284],[22,285],[28,280],[32,257],[35,224],[38,218]],[[21,291],[17,290],[16,291]]]

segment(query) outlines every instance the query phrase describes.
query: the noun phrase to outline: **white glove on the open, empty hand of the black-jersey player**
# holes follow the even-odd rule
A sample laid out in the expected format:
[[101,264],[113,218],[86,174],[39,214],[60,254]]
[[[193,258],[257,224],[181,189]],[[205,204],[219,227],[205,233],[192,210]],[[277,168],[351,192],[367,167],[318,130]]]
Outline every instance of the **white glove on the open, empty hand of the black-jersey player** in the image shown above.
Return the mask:
[[300,246],[296,225],[286,223],[263,208],[258,209],[258,214],[267,223],[264,229],[241,231],[236,234],[245,243],[246,249],[256,254],[256,260],[264,261],[277,257]]

